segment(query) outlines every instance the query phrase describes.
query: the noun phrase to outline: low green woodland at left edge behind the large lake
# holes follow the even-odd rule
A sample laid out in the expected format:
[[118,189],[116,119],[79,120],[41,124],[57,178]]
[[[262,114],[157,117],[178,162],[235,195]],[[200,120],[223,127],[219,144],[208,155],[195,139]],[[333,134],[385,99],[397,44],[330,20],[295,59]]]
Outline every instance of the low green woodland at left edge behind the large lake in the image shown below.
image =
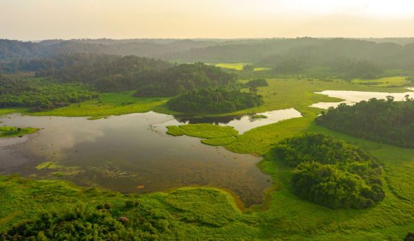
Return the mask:
[[55,83],[42,78],[0,74],[0,107],[53,109],[98,96],[97,92],[81,83]]

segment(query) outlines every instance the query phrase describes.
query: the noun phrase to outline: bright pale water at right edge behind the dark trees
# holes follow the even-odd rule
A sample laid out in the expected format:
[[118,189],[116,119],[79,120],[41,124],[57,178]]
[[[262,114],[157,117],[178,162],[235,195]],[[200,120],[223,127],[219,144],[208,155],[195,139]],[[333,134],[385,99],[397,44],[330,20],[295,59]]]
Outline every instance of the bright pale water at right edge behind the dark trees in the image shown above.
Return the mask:
[[[414,87],[408,87],[408,90],[413,90]],[[325,94],[330,97],[342,98],[345,101],[341,102],[319,102],[311,105],[320,109],[328,109],[329,107],[337,107],[339,104],[346,103],[346,105],[354,105],[360,101],[368,101],[370,98],[386,99],[386,96],[393,96],[395,101],[403,101],[405,96],[414,98],[414,92],[404,93],[386,93],[386,92],[362,92],[362,91],[346,91],[346,90],[325,90],[323,92],[316,92],[315,94]]]

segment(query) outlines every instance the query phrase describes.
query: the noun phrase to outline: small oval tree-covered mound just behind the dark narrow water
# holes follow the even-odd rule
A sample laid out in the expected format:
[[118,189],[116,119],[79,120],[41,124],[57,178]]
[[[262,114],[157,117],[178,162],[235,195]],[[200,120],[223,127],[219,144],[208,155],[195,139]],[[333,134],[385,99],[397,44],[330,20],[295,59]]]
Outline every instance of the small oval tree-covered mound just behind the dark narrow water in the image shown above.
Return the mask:
[[168,101],[169,109],[192,114],[235,112],[262,105],[263,97],[253,93],[227,89],[202,89],[181,94]]

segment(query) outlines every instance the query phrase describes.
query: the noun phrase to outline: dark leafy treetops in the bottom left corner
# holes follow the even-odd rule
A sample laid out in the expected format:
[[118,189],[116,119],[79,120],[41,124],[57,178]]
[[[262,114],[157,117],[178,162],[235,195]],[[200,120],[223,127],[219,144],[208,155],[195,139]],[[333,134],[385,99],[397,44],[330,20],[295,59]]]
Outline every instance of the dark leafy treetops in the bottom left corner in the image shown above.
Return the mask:
[[[105,206],[105,205],[102,205]],[[0,240],[156,240],[169,230],[166,217],[139,207],[139,217],[116,217],[108,209],[77,205],[72,209],[41,213],[0,233]]]

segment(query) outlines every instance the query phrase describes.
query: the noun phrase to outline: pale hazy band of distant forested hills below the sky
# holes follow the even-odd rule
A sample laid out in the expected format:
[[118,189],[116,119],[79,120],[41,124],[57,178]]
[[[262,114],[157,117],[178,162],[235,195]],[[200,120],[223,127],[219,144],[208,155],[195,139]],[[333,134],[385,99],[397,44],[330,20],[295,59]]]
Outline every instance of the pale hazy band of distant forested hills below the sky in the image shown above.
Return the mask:
[[412,74],[414,67],[413,39],[0,40],[0,60],[5,61],[75,53],[134,54],[179,63],[245,62],[270,67],[273,75],[340,78],[375,78],[396,70]]

